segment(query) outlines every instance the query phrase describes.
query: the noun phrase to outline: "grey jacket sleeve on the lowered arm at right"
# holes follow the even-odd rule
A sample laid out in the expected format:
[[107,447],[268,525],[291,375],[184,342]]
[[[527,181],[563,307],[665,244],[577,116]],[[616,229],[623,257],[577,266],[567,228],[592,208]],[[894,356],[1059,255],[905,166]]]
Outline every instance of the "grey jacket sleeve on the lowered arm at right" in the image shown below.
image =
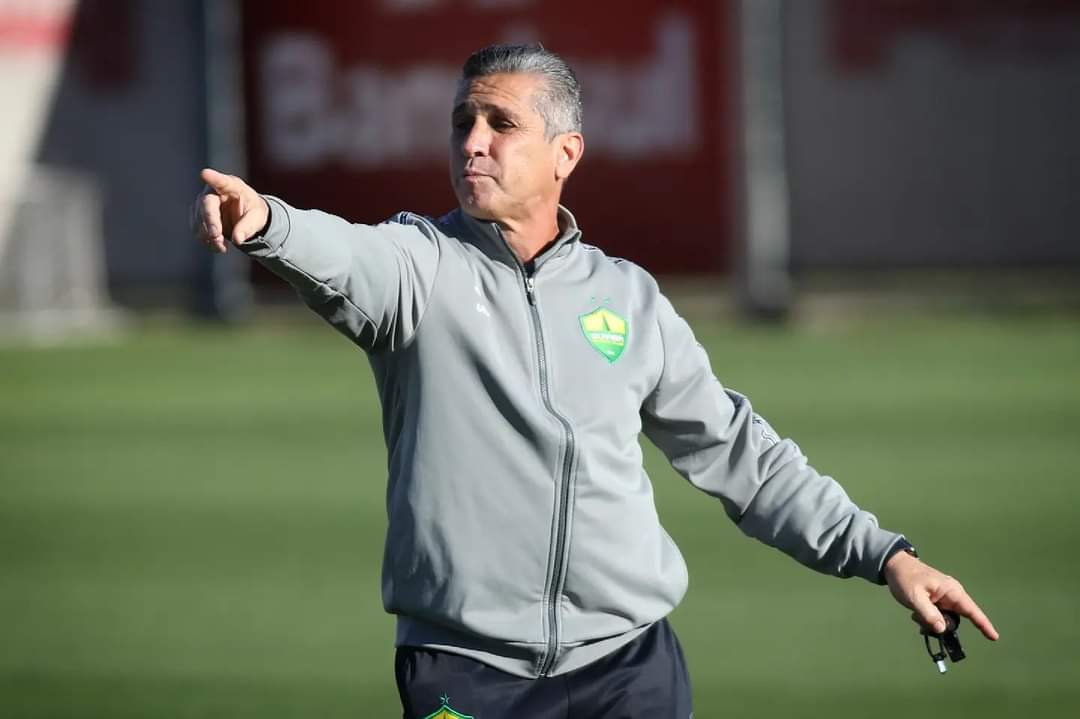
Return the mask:
[[746,397],[720,385],[663,297],[658,311],[664,367],[642,408],[645,435],[687,480],[718,498],[745,534],[820,572],[880,584],[881,562],[900,535],[814,471]]

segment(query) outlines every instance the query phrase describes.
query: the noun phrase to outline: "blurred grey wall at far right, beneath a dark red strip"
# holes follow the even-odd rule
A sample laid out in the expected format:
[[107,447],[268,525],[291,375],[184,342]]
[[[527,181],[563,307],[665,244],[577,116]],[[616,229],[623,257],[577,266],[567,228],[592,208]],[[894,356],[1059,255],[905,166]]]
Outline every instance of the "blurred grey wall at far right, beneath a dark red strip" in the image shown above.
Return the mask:
[[826,11],[787,3],[796,267],[1080,261],[1080,16],[1041,57],[927,32],[845,74]]

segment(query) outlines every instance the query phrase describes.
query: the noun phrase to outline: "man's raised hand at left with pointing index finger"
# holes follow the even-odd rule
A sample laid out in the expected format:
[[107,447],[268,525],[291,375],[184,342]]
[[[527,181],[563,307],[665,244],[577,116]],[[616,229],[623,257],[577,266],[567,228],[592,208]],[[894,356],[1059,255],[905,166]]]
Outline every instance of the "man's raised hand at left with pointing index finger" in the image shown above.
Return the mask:
[[191,208],[191,230],[211,252],[225,253],[227,240],[242,245],[266,228],[270,208],[244,180],[210,167],[199,176],[206,188]]

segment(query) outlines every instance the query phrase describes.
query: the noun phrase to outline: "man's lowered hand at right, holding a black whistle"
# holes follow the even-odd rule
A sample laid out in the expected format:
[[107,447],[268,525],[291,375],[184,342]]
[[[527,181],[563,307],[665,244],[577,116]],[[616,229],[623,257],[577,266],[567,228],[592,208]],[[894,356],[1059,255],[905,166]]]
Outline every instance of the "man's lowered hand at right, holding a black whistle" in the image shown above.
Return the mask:
[[912,619],[916,624],[941,634],[945,630],[941,610],[947,609],[971,620],[987,639],[998,638],[998,630],[989,618],[959,582],[906,552],[897,552],[889,558],[885,578],[896,601],[913,610]]

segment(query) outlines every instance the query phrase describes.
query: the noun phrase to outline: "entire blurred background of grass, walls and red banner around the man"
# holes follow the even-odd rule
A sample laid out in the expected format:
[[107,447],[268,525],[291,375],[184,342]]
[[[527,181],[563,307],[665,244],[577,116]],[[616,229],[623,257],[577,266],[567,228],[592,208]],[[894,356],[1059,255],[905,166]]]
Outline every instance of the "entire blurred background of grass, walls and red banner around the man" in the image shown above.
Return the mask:
[[1002,634],[939,677],[649,447],[697,714],[1075,711],[1080,1],[0,0],[0,716],[400,714],[365,357],[188,215],[442,214],[499,41],[582,81],[585,241]]

